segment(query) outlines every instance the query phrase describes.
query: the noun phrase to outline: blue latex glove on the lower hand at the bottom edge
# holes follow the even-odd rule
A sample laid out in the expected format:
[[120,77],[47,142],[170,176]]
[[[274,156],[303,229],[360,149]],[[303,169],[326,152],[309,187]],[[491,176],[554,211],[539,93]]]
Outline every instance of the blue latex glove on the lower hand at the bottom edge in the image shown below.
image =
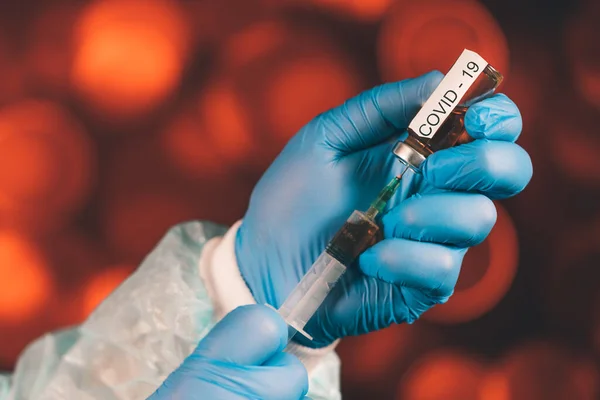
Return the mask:
[[149,400],[303,399],[308,375],[282,352],[287,326],[262,305],[239,307],[200,341]]

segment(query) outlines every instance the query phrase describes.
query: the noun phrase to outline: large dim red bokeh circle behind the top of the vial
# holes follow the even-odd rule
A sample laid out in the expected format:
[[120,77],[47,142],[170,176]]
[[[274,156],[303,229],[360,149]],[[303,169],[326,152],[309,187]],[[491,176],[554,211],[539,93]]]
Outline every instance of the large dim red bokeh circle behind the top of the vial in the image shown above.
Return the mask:
[[503,75],[509,52],[489,11],[475,0],[415,1],[394,7],[378,39],[385,80],[402,80],[437,69],[446,73],[463,49],[478,52]]

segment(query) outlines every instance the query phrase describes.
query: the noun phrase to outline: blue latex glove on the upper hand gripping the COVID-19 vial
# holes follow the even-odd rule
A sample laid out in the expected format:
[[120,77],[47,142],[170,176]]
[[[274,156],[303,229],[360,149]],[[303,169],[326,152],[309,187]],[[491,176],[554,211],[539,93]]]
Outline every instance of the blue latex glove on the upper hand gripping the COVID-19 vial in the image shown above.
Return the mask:
[[[319,115],[287,144],[252,193],[236,257],[255,299],[278,308],[353,210],[403,168],[393,144],[443,75],[385,84]],[[413,322],[452,294],[467,248],[496,220],[491,199],[519,193],[532,175],[515,144],[522,127],[502,94],[465,116],[475,141],[431,155],[405,175],[382,217],[384,240],[358,259],[309,321],[309,342]]]

